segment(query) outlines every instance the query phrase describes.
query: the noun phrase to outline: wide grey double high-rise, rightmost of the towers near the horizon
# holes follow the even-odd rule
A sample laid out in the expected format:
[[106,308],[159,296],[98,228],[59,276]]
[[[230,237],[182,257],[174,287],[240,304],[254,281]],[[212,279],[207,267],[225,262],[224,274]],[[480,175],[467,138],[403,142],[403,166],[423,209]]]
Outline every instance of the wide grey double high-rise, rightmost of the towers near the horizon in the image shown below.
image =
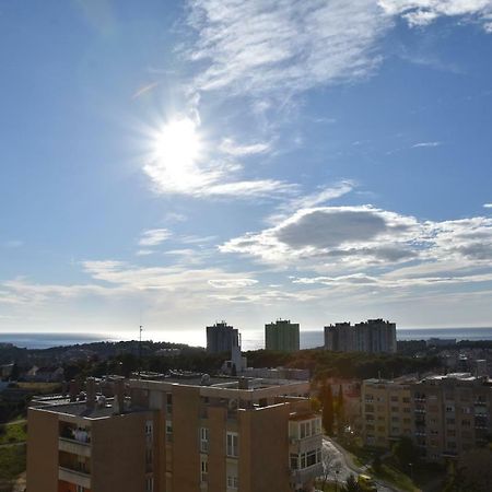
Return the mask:
[[395,353],[396,324],[383,319],[325,327],[325,348],[335,352]]

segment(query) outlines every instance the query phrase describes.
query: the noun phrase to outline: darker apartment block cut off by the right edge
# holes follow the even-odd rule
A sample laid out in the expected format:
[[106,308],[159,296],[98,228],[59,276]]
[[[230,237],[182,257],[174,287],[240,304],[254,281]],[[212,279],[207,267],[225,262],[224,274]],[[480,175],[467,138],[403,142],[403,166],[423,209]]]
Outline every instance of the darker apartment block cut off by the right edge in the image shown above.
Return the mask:
[[492,380],[470,373],[425,377],[411,386],[415,444],[429,461],[488,444]]

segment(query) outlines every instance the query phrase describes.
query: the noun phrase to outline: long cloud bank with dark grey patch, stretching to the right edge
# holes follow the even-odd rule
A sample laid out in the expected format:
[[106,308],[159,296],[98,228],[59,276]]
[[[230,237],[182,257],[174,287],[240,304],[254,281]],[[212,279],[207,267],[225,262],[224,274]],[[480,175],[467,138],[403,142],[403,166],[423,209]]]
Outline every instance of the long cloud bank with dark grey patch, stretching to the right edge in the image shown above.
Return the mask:
[[[447,282],[488,281],[483,274],[492,260],[492,219],[421,222],[370,206],[307,208],[261,232],[232,238],[220,250],[284,268],[336,273],[325,282],[373,282],[380,280],[382,271],[406,263],[425,266],[427,271],[417,276],[422,283],[444,282],[446,276],[432,274],[429,266],[442,270],[446,261],[454,261]],[[478,271],[458,274],[458,266]],[[367,269],[377,270],[367,276]]]

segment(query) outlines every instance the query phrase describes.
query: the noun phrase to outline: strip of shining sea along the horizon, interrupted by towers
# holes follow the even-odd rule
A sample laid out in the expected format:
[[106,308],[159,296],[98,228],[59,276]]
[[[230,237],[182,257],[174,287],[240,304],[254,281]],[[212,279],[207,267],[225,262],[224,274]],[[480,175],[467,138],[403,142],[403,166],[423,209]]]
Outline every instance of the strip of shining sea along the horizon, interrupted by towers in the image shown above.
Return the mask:
[[[189,343],[204,345],[204,330],[198,332],[152,332],[144,339],[154,341],[172,341],[174,343]],[[429,340],[430,338],[455,338],[456,340],[492,340],[492,327],[480,328],[397,328],[398,340]],[[0,343],[13,343],[26,349],[48,349],[50,347],[72,345],[77,343],[91,343],[98,341],[122,340],[121,333],[63,333],[63,332],[0,332]],[[131,339],[131,335],[127,340]],[[134,337],[133,337],[134,339]],[[301,349],[313,349],[324,344],[323,330],[301,331]],[[263,331],[243,330],[243,350],[257,350],[265,347]]]

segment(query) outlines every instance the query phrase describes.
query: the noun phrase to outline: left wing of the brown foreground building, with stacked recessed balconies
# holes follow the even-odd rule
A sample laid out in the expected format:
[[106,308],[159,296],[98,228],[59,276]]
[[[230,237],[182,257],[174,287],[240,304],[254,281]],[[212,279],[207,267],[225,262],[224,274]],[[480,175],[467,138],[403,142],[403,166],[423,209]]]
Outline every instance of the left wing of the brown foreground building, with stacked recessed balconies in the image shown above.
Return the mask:
[[94,398],[31,408],[27,490],[150,492],[157,422],[148,409],[124,406]]

